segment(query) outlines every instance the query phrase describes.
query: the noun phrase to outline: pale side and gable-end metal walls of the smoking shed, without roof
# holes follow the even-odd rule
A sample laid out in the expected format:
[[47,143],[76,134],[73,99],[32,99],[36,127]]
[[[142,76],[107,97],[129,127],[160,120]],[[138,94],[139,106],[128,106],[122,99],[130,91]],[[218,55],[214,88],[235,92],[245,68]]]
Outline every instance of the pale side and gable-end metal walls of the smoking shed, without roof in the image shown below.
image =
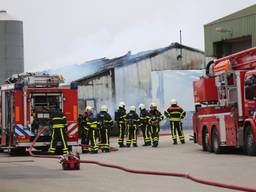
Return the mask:
[[79,99],[94,100],[97,111],[102,104],[106,104],[111,115],[114,115],[120,101],[126,103],[127,109],[130,105],[138,106],[140,103],[148,107],[152,102],[152,71],[204,67],[203,53],[183,49],[183,58],[177,61],[179,54],[178,49],[170,49],[155,57],[85,79],[79,85]]

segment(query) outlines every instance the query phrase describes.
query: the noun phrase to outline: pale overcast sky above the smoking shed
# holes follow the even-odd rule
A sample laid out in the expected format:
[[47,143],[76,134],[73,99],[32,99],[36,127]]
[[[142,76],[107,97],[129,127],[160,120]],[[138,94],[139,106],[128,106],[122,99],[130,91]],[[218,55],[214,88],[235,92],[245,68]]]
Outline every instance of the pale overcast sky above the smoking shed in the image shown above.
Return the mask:
[[23,21],[25,71],[165,47],[204,50],[203,26],[255,0],[0,0]]

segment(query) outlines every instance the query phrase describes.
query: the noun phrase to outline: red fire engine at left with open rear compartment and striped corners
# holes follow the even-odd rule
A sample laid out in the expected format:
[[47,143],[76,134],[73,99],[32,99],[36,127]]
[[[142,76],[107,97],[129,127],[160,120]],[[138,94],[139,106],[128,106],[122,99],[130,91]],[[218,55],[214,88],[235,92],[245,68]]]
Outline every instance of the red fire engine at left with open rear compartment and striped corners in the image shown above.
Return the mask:
[[0,150],[23,154],[37,135],[34,147],[46,151],[51,141],[51,111],[59,108],[67,118],[69,147],[78,144],[77,84],[60,86],[63,77],[46,73],[13,75],[0,90]]

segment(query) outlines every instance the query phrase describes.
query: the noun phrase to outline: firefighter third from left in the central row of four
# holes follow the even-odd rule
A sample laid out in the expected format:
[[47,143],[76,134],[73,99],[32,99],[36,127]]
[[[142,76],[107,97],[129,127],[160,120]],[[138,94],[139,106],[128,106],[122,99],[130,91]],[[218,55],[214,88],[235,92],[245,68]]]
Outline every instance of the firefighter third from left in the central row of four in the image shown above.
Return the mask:
[[144,104],[139,105],[140,109],[140,128],[143,134],[144,144],[143,146],[150,146],[151,145],[151,139],[150,139],[150,114],[146,110]]

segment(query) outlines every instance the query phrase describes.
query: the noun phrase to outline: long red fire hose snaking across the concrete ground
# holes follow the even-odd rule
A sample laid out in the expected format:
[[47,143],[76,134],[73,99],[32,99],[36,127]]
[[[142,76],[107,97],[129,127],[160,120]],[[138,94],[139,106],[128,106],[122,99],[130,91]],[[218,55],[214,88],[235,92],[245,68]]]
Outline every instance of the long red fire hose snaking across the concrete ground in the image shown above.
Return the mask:
[[[60,156],[54,156],[54,155],[35,155],[32,152],[33,145],[41,135],[41,133],[44,132],[45,129],[42,129],[37,136],[35,137],[34,141],[30,145],[29,148],[29,154],[32,157],[39,157],[39,158],[60,158]],[[120,165],[116,164],[109,164],[109,163],[101,163],[98,161],[92,161],[92,160],[80,160],[80,163],[88,163],[88,164],[95,164],[99,165],[102,167],[108,167],[108,168],[113,168],[113,169],[119,169],[125,172],[129,173],[134,173],[134,174],[144,174],[144,175],[158,175],[158,176],[171,176],[171,177],[179,177],[179,178],[184,178],[184,179],[189,179],[191,181],[204,184],[204,185],[209,185],[209,186],[214,186],[214,187],[220,187],[220,188],[226,188],[226,189],[233,189],[233,190],[238,190],[238,191],[248,191],[248,192],[256,192],[256,188],[253,187],[247,187],[247,186],[241,186],[241,185],[234,185],[234,184],[227,184],[227,183],[220,183],[220,182],[215,182],[215,181],[210,181],[206,179],[201,179],[195,176],[192,176],[187,173],[179,173],[179,172],[165,172],[165,171],[151,171],[151,170],[138,170],[138,169],[130,169],[126,168]]]

